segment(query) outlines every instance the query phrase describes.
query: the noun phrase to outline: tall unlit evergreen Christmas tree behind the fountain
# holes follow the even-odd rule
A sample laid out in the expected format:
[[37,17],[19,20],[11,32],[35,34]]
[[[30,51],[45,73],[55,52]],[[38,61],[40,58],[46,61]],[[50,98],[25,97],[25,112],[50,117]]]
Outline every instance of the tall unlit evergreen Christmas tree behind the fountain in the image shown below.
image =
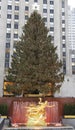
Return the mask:
[[15,55],[12,56],[7,80],[13,85],[8,85],[7,91],[24,94],[38,90],[46,94],[58,90],[63,74],[56,49],[43,19],[34,11],[23,27]]

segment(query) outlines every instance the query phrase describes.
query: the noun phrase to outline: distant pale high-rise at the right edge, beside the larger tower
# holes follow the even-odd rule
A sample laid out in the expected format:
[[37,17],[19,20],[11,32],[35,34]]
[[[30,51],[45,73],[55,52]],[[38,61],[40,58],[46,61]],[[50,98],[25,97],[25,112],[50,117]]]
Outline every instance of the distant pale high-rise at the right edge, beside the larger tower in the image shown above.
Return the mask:
[[68,40],[71,75],[75,75],[75,8],[68,9]]

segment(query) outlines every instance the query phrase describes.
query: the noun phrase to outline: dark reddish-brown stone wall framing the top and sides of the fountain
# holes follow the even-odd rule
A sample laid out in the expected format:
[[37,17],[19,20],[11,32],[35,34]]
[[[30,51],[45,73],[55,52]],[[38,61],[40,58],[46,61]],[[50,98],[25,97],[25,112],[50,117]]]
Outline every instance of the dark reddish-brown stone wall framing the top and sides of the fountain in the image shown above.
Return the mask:
[[[42,101],[57,101],[59,104],[59,115],[60,115],[60,119],[63,116],[63,106],[65,103],[75,103],[75,98],[52,98],[52,97],[43,97]],[[8,116],[11,116],[12,114],[12,103],[13,101],[29,101],[29,102],[38,102],[39,98],[37,97],[25,97],[25,98],[21,98],[21,97],[1,97],[0,98],[0,104],[1,103],[6,103],[8,105],[9,108],[9,114]]]

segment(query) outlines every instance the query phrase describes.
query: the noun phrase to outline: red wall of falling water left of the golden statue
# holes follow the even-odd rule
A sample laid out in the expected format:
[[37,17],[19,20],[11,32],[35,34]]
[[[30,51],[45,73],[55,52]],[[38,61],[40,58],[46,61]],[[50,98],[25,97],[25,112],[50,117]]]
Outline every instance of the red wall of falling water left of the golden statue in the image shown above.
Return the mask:
[[28,102],[22,102],[22,101],[14,101],[13,102],[13,108],[12,108],[12,117],[11,117],[11,122],[17,123],[17,124],[26,124],[27,122],[27,108]]

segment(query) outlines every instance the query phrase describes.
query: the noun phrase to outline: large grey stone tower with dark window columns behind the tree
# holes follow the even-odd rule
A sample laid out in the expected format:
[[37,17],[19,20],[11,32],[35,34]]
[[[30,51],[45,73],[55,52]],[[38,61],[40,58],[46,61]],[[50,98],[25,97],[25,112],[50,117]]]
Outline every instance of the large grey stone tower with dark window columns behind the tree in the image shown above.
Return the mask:
[[44,19],[52,42],[57,46],[63,72],[68,73],[67,0],[0,0],[0,96],[3,96],[4,77],[11,66],[11,55],[22,34],[22,27],[34,9]]

